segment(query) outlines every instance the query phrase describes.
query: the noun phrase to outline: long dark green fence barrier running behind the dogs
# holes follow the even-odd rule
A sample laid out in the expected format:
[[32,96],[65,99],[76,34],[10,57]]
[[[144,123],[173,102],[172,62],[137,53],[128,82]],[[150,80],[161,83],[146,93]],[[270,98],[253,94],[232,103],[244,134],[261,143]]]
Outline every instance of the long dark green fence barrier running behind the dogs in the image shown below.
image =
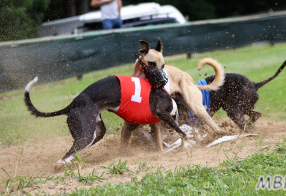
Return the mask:
[[134,62],[140,39],[155,48],[160,37],[169,56],[284,41],[285,30],[286,12],[274,12],[0,42],[0,92],[23,88],[36,75],[50,82]]

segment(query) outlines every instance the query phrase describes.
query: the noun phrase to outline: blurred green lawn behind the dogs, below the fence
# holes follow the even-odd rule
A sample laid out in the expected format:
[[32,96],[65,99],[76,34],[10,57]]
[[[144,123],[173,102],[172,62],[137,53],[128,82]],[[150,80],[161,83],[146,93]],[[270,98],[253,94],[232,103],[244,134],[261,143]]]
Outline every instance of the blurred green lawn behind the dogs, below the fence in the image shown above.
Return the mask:
[[[220,50],[193,54],[188,60],[186,55],[165,57],[165,63],[176,66],[188,72],[194,81],[198,81],[214,73],[210,66],[197,71],[198,62],[204,57],[212,57],[225,66],[225,72],[240,73],[252,81],[262,81],[274,74],[278,67],[286,60],[286,44],[275,46],[247,46],[238,49]],[[135,59],[134,59],[135,60]],[[108,75],[130,75],[133,64],[118,66],[95,71],[83,75],[82,80],[75,77],[48,84],[34,86],[31,91],[33,104],[43,112],[53,112],[66,107],[74,97],[94,81]],[[201,74],[201,76],[200,76]],[[256,111],[262,113],[263,118],[278,121],[286,119],[286,83],[283,81],[286,70],[273,81],[258,90],[259,100]],[[41,78],[39,78],[41,80]],[[28,81],[27,81],[28,83]],[[19,145],[27,139],[47,139],[69,135],[66,116],[54,118],[35,118],[27,111],[24,104],[24,86],[0,94],[0,145]],[[218,116],[226,116],[219,111]],[[117,133],[123,121],[116,115],[104,112],[102,119],[107,127],[107,134]]]

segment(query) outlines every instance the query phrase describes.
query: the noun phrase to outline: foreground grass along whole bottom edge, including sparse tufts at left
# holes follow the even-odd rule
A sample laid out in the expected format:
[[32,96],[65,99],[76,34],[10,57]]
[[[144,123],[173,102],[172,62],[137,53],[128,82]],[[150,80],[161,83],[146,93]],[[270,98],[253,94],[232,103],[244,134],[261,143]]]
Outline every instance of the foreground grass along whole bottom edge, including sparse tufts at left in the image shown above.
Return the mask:
[[[85,163],[83,162],[85,157],[77,155],[80,164],[76,166],[76,169],[70,171],[64,169],[63,174],[57,177],[48,174],[17,176],[7,173],[9,177],[0,181],[0,195],[4,193],[1,192],[1,188],[4,188],[2,190],[6,193],[13,194],[21,188],[40,187],[51,181],[55,185],[68,184],[70,178],[83,181],[84,184],[91,185],[91,188],[75,189],[69,195],[284,195],[285,190],[282,188],[278,190],[255,189],[260,176],[270,176],[272,184],[273,176],[281,175],[284,178],[282,183],[285,183],[286,138],[282,140],[279,138],[276,146],[268,148],[266,152],[260,151],[245,159],[237,158],[237,154],[233,157],[226,155],[227,160],[217,167],[198,164],[186,167],[176,166],[172,170],[164,170],[162,166],[151,165],[153,170],[146,172],[142,177],[137,175],[141,172],[139,168],[137,171],[131,171],[126,166],[127,161],[121,162],[121,159],[115,161],[112,158],[109,165],[105,167],[107,173],[109,172],[112,176],[132,175],[133,177],[131,182],[126,184],[107,182],[101,186],[93,186],[93,183],[106,180],[102,177],[105,170],[100,176],[96,175],[95,169],[89,175],[80,174],[79,167]],[[137,162],[133,161],[133,164]],[[142,168],[142,164],[139,164],[139,167]],[[53,187],[53,184],[50,186]],[[47,192],[41,194],[47,194]],[[66,195],[66,193],[61,192],[58,195]]]

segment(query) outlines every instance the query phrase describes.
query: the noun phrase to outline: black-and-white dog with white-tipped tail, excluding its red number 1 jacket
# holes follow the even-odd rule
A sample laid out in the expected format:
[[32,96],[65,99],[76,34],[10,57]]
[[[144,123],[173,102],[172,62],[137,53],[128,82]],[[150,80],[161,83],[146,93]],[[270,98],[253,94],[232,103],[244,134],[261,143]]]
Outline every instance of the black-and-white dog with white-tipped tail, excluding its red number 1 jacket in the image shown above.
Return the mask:
[[[144,55],[145,53],[143,50],[139,50],[139,52],[141,55]],[[152,72],[152,70],[149,71]],[[156,67],[154,67],[153,71],[156,71]],[[136,78],[131,76],[125,77],[129,77],[130,79]],[[100,113],[104,110],[116,113],[118,109],[120,109],[119,107],[121,107],[121,80],[119,80],[118,76],[109,76],[89,85],[77,97],[75,97],[75,99],[66,108],[51,113],[40,112],[35,108],[30,100],[31,87],[37,82],[37,80],[38,77],[28,83],[25,89],[25,103],[28,110],[31,111],[31,113],[36,117],[55,117],[59,115],[67,115],[67,124],[74,139],[71,149],[62,159],[58,161],[58,163],[71,161],[74,158],[73,155],[75,154],[75,149],[77,152],[82,152],[102,139],[106,132],[106,128],[101,119]],[[171,116],[171,114],[174,115],[175,111],[177,110],[175,101],[171,99],[170,95],[164,88],[158,86],[154,87],[154,85],[152,86],[153,87],[150,87],[149,89],[149,110],[152,112],[154,117],[163,120],[170,127],[175,129],[182,138],[182,146],[188,148],[188,144],[186,143],[186,134],[179,128]],[[140,86],[138,87],[136,84],[135,89],[131,90],[133,90],[132,93],[134,93],[134,95],[132,95],[132,99],[133,96],[140,94]],[[136,123],[129,121],[129,131],[133,131],[140,126]],[[146,122],[145,124],[150,124],[150,122]],[[129,135],[121,134],[121,142],[122,140],[128,142],[129,138]]]

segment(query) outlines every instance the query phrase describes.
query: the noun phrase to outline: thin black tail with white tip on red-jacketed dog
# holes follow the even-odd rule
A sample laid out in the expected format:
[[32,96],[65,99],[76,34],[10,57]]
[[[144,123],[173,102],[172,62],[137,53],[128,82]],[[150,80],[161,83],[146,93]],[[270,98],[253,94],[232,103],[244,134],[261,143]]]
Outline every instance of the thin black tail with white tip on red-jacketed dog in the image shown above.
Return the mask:
[[40,112],[38,111],[35,106],[32,104],[31,99],[30,99],[30,90],[31,87],[38,81],[38,76],[35,77],[35,79],[31,82],[29,82],[25,88],[25,92],[24,92],[24,101],[26,103],[26,106],[28,108],[29,111],[31,111],[31,113],[33,115],[35,115],[36,117],[55,117],[55,116],[59,116],[59,115],[67,115],[70,112],[70,107],[66,107],[63,110],[57,111],[57,112],[51,112],[51,113],[44,113],[44,112]]

